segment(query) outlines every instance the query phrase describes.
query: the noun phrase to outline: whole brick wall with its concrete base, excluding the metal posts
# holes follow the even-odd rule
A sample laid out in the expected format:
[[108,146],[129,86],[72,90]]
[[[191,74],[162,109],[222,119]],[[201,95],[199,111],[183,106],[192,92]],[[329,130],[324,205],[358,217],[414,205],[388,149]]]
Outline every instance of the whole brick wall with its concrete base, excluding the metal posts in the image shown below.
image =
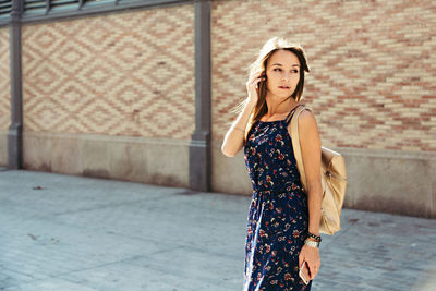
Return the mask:
[[[435,217],[433,2],[213,1],[213,191],[252,192],[243,153],[227,158],[220,146],[246,98],[247,66],[277,35],[307,52],[303,100],[323,144],[346,157],[346,207]],[[190,185],[192,3],[24,24],[22,33],[25,169]],[[0,165],[8,49],[1,28]]]

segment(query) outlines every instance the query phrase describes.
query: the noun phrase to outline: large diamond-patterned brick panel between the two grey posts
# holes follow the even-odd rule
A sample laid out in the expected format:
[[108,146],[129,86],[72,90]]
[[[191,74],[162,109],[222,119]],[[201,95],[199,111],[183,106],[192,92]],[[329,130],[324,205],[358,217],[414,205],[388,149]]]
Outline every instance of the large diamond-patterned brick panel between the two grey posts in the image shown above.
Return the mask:
[[23,27],[24,130],[190,140],[193,5]]

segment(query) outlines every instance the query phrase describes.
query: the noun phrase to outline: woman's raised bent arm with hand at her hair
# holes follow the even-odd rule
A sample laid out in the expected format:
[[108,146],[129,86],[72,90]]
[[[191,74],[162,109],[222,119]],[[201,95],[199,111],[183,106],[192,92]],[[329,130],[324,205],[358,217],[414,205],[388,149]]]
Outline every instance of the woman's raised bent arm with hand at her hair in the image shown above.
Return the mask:
[[263,72],[256,72],[246,82],[246,90],[249,98],[237,120],[232,123],[222,142],[221,151],[228,157],[234,157],[238,151],[244,146],[245,129],[250,116],[257,104],[257,84],[261,80]]

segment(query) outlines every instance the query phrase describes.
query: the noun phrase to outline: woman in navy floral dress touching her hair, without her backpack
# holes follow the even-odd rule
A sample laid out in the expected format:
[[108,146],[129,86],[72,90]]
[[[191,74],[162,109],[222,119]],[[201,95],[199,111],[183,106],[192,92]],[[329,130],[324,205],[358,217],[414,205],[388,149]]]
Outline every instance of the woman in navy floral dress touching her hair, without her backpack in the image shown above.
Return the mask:
[[[253,184],[245,241],[244,290],[310,290],[319,270],[320,138],[313,113],[299,116],[307,190],[302,190],[290,120],[310,72],[302,47],[269,39],[251,66],[247,98],[226,134],[221,151],[244,148]],[[306,284],[299,276],[305,262]],[[307,269],[306,269],[307,270]]]

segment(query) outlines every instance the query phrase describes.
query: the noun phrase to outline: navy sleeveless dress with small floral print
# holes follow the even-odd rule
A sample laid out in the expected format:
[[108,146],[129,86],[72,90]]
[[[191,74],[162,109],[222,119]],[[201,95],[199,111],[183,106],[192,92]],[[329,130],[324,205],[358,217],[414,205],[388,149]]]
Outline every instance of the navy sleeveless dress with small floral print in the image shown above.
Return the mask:
[[308,208],[288,132],[294,109],[283,120],[254,123],[244,146],[253,184],[244,291],[312,287],[312,281],[306,286],[299,276],[299,254],[308,231]]

